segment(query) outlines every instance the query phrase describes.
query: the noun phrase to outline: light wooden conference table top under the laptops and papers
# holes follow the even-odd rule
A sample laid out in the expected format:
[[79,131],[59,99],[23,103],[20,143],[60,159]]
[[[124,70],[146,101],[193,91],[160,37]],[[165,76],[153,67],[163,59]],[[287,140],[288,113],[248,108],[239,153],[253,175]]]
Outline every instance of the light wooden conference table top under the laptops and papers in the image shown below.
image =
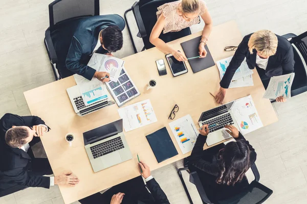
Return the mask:
[[[172,41],[169,45],[183,52],[180,43],[200,35],[201,32],[195,33]],[[238,45],[241,40],[242,35],[234,21],[213,27],[208,47],[214,61],[232,56],[234,52],[225,52],[224,46]],[[159,77],[155,63],[159,59],[164,59],[167,66],[168,73],[162,77]],[[76,85],[73,77],[24,93],[31,114],[41,117],[51,127],[51,131],[41,137],[41,141],[54,174],[59,175],[64,170],[72,170],[80,179],[80,183],[75,187],[59,186],[65,203],[74,202],[139,176],[137,154],[139,154],[141,160],[148,164],[151,170],[188,157],[190,152],[185,155],[182,154],[169,128],[168,123],[171,120],[168,119],[168,115],[170,111],[177,104],[180,109],[176,113],[175,119],[190,114],[195,125],[198,126],[198,119],[201,113],[218,106],[209,93],[209,91],[215,92],[219,87],[220,77],[216,66],[193,73],[187,63],[188,73],[173,78],[165,55],[157,48],[145,50],[123,60],[125,61],[124,66],[127,72],[141,92],[140,96],[129,101],[125,106],[149,98],[158,121],[139,129],[125,132],[133,159],[97,173],[93,172],[89,158],[86,155],[82,133],[120,119],[117,112],[118,106],[113,105],[83,117],[78,116],[75,114],[66,92],[67,88]],[[261,121],[266,126],[276,122],[277,116],[270,101],[262,98],[265,89],[256,69],[253,71],[254,86],[229,89],[226,99],[230,101],[251,94]],[[155,79],[157,86],[146,91],[146,85],[150,79]],[[145,136],[164,126],[166,126],[179,154],[158,164]],[[64,139],[67,133],[73,133],[76,137],[72,147],[69,147],[68,142]],[[204,148],[208,147],[205,145]]]

